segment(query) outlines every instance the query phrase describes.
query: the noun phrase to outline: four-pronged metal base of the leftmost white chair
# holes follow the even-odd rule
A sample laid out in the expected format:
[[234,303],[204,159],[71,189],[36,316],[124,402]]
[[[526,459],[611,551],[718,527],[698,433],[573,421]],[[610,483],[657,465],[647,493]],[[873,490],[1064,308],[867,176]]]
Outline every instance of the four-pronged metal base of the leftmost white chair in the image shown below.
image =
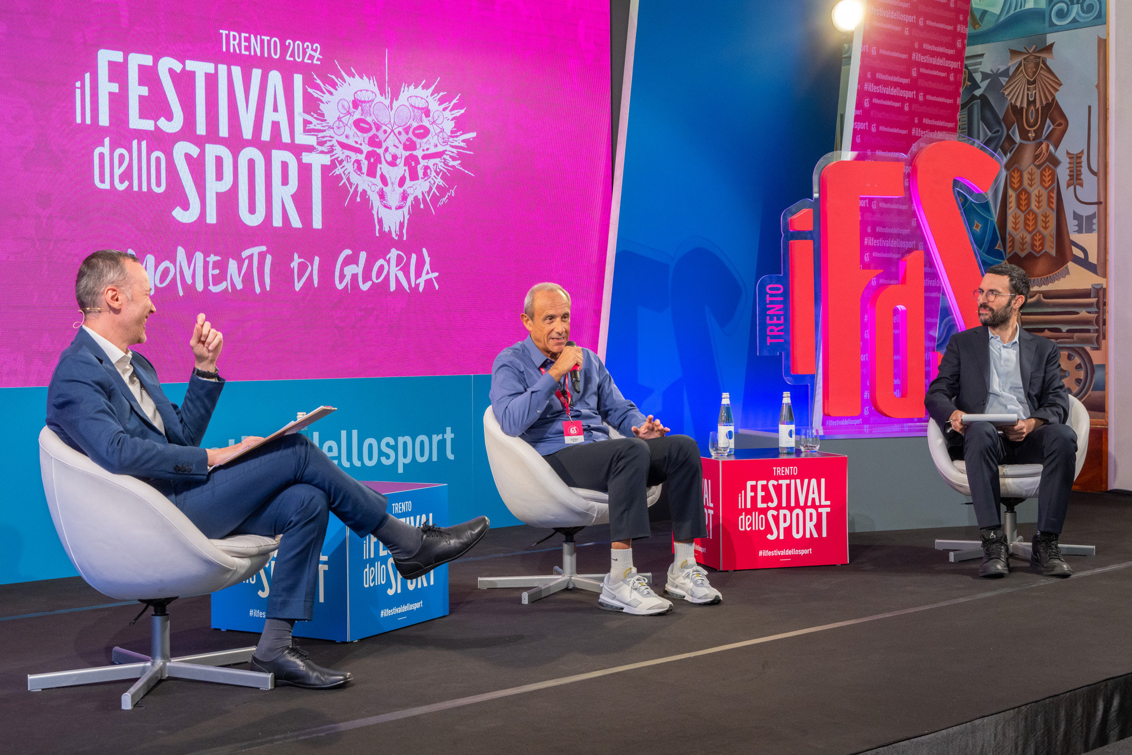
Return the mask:
[[[114,647],[112,659],[114,666],[102,666],[74,671],[53,671],[51,674],[28,674],[29,692],[52,687],[72,687],[80,684],[98,681],[117,681],[119,679],[137,679],[132,687],[122,693],[122,710],[129,711],[147,692],[162,679],[192,679],[195,681],[213,681],[215,684],[238,685],[241,687],[258,687],[272,689],[275,687],[275,675],[241,669],[220,668],[232,663],[246,663],[251,660],[256,649],[240,647],[222,650],[215,653],[197,655],[169,657],[169,615],[164,606],[155,607],[155,614],[149,619],[152,635],[149,638],[149,655],[135,653],[123,647]],[[161,610],[158,615],[156,611]]]

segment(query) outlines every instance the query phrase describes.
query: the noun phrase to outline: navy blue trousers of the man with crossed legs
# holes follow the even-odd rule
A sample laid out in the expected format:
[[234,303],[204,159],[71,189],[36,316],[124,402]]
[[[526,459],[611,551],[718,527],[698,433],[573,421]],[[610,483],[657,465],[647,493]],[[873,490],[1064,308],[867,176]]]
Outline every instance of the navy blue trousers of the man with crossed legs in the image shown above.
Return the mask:
[[298,434],[213,470],[203,482],[178,483],[173,496],[206,538],[282,534],[267,618],[302,621],[314,612],[329,512],[365,537],[387,516],[386,500]]

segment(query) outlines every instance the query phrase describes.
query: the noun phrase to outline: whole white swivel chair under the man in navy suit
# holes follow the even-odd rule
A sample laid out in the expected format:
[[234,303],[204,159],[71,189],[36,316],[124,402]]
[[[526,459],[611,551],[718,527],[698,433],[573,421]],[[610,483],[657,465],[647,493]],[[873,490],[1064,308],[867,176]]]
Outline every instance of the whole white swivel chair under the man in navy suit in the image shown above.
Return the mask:
[[155,684],[171,677],[260,689],[275,686],[273,674],[218,668],[250,661],[255,647],[170,658],[165,611],[178,595],[215,592],[254,575],[278,548],[275,538],[242,534],[209,540],[154,488],[106,472],[50,428],[40,432],[40,469],[55,531],[78,573],[98,592],[152,607],[153,617],[149,655],[114,647],[114,666],[31,674],[28,689],[138,679],[122,694],[122,710],[130,710]]

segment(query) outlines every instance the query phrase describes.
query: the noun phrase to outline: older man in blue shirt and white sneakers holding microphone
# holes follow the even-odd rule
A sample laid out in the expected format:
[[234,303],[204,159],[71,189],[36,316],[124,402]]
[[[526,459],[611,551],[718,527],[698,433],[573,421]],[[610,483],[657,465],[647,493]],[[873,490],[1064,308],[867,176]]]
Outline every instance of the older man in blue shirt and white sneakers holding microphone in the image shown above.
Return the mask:
[[[645,492],[661,482],[668,486],[676,540],[664,590],[694,604],[719,603],[719,591],[693,552],[695,538],[707,537],[700,448],[644,417],[598,355],[569,342],[569,294],[556,283],[528,292],[522,320],[531,335],[504,349],[491,368],[491,407],[499,426],[534,446],[566,484],[609,494],[612,552],[601,608],[636,616],[672,609],[633,568],[632,542],[650,534]],[[625,437],[610,438],[607,424]]]

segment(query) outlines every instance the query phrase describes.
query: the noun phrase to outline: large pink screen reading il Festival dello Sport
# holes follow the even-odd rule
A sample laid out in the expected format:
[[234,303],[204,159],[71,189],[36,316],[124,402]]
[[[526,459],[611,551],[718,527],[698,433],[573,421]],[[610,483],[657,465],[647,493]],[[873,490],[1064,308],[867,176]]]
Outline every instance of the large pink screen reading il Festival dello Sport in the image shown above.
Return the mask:
[[597,345],[608,3],[20,3],[0,38],[0,386],[50,380],[101,248],[149,269],[165,380],[198,311],[228,378],[487,372],[544,280]]

